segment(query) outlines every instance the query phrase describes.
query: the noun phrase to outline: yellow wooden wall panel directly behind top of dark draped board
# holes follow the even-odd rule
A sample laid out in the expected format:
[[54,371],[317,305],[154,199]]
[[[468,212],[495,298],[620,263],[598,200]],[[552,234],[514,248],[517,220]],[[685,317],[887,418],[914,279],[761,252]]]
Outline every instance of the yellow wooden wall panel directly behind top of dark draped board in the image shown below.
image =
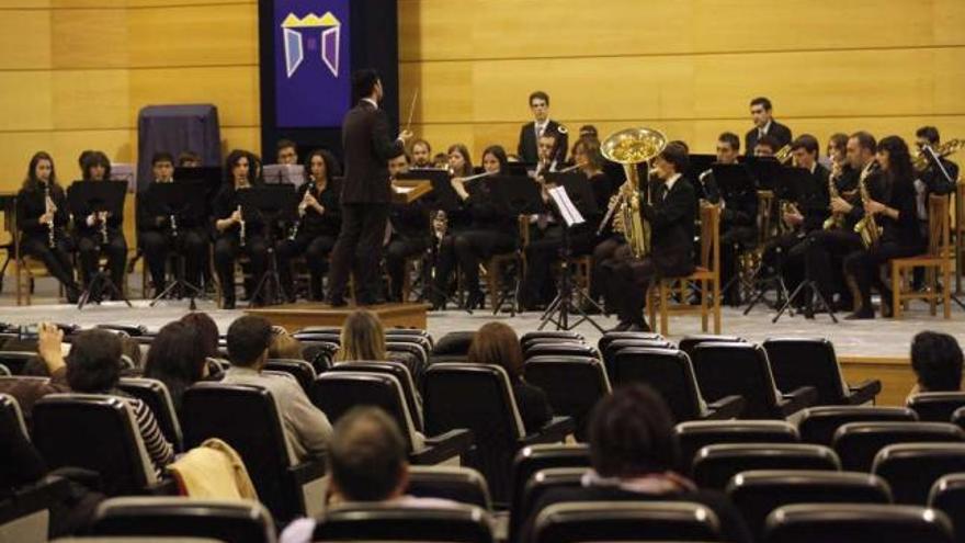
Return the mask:
[[222,126],[260,124],[258,67],[130,70],[129,126],[145,105],[214,103]]

